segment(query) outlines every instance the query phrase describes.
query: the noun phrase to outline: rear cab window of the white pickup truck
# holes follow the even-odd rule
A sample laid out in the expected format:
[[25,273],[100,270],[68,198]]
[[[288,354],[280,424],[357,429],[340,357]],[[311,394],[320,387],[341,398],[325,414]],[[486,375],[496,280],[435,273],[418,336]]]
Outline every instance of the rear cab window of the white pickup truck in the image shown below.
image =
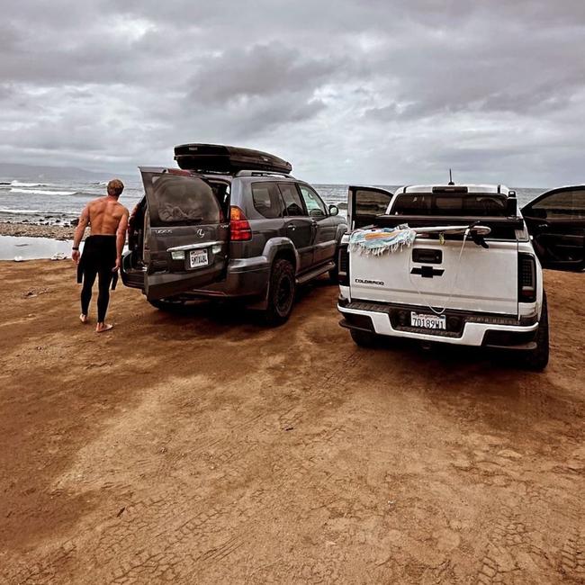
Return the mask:
[[396,198],[392,214],[506,217],[508,198],[497,193],[405,193]]

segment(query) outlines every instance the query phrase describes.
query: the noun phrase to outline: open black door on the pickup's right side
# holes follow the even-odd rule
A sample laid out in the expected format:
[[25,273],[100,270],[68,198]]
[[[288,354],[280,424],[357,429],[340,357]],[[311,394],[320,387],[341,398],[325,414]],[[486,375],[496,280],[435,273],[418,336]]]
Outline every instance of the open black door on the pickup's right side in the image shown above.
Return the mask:
[[548,191],[522,214],[543,267],[585,270],[585,185]]

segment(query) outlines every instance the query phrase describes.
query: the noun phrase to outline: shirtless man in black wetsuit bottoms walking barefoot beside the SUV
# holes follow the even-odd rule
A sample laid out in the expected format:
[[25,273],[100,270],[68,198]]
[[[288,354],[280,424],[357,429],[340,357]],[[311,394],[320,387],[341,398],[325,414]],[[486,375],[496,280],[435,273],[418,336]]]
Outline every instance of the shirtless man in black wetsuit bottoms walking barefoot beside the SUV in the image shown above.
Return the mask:
[[[81,290],[81,315],[79,320],[87,323],[87,311],[92,298],[95,276],[99,276],[99,294],[97,297],[98,333],[109,331],[112,325],[105,322],[105,313],[110,302],[110,285],[112,289],[118,278],[121,266],[121,250],[126,241],[128,229],[128,210],[118,202],[124,185],[120,179],[112,179],[108,183],[108,194],[94,199],[85,205],[73,239],[71,257],[77,265],[77,282],[83,280]],[[84,236],[85,227],[89,225],[91,233],[85,239],[84,253],[79,257],[79,243]]]

